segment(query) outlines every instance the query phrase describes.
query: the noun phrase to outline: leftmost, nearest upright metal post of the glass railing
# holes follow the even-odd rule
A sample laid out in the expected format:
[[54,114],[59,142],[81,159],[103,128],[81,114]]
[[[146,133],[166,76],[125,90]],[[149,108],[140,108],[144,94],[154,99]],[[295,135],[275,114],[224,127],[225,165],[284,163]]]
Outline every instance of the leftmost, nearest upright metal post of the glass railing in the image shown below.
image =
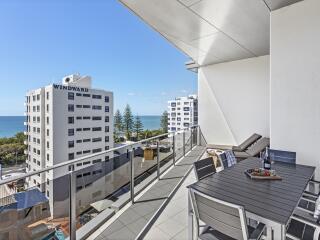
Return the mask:
[[70,166],[69,173],[69,230],[70,240],[76,240],[77,216],[76,216],[76,176],[74,173],[74,165]]

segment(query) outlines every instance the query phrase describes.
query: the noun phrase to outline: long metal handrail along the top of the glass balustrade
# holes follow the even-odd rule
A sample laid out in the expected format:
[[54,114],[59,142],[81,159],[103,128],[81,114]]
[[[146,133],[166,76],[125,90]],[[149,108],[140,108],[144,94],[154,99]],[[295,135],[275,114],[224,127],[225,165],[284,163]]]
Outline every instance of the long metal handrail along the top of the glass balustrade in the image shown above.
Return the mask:
[[174,133],[164,133],[164,134],[161,134],[161,135],[158,135],[158,136],[154,136],[154,137],[151,137],[151,138],[140,140],[138,142],[129,143],[129,144],[125,145],[125,146],[111,148],[109,150],[105,150],[105,151],[94,153],[94,154],[91,154],[91,155],[88,155],[88,156],[76,158],[76,159],[73,159],[73,160],[69,160],[67,162],[62,162],[62,163],[53,165],[51,167],[47,167],[47,168],[44,168],[44,169],[41,169],[41,170],[25,173],[25,174],[20,175],[20,176],[11,177],[11,178],[8,178],[8,179],[5,179],[5,180],[0,180],[0,185],[8,184],[8,183],[11,183],[11,182],[14,182],[14,181],[18,181],[20,179],[25,179],[27,177],[31,177],[33,175],[37,175],[37,174],[40,174],[40,173],[48,172],[48,171],[54,170],[56,168],[60,168],[60,167],[64,167],[64,166],[70,166],[70,165],[76,164],[78,162],[81,162],[83,160],[86,160],[88,158],[97,157],[97,156],[100,156],[100,155],[103,155],[103,154],[106,154],[106,153],[111,153],[111,152],[114,152],[114,151],[117,151],[117,150],[120,150],[120,149],[123,149],[123,148],[133,148],[133,146],[135,146],[135,145],[138,145],[138,144],[141,144],[141,143],[144,143],[144,142],[148,142],[148,141],[151,141],[151,140],[154,140],[154,139],[158,139],[158,138],[161,138],[161,137],[164,137],[164,136],[168,136],[170,134],[177,135],[179,133],[183,133],[183,132],[185,132],[185,131],[187,131],[189,129],[195,128],[195,127],[198,127],[198,125],[193,125],[193,126],[184,128],[184,129],[182,129],[180,131],[176,131]]

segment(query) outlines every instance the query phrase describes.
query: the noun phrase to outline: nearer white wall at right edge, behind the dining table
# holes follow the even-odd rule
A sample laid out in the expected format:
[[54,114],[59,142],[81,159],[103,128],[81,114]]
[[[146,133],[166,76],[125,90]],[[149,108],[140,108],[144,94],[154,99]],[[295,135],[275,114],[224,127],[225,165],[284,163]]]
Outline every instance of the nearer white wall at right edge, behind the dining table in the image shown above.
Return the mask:
[[319,10],[319,0],[305,0],[271,13],[271,147],[318,169]]

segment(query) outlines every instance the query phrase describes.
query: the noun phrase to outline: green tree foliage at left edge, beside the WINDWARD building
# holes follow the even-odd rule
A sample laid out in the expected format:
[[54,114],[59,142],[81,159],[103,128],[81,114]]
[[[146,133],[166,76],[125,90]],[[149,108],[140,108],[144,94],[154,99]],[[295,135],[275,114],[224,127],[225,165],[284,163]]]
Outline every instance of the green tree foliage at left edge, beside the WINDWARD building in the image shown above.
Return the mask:
[[25,135],[21,132],[11,138],[0,138],[0,163],[4,167],[25,162],[24,150],[27,148],[23,143],[25,139]]

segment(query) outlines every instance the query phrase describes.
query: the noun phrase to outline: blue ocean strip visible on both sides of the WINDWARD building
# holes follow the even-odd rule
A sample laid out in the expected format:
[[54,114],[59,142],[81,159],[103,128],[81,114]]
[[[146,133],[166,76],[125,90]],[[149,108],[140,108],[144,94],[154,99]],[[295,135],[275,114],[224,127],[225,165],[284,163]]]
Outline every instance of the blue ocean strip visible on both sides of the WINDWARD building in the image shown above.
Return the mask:
[[[160,128],[161,116],[140,116],[144,129],[155,130]],[[0,137],[12,137],[17,132],[23,132],[24,116],[0,116]]]

